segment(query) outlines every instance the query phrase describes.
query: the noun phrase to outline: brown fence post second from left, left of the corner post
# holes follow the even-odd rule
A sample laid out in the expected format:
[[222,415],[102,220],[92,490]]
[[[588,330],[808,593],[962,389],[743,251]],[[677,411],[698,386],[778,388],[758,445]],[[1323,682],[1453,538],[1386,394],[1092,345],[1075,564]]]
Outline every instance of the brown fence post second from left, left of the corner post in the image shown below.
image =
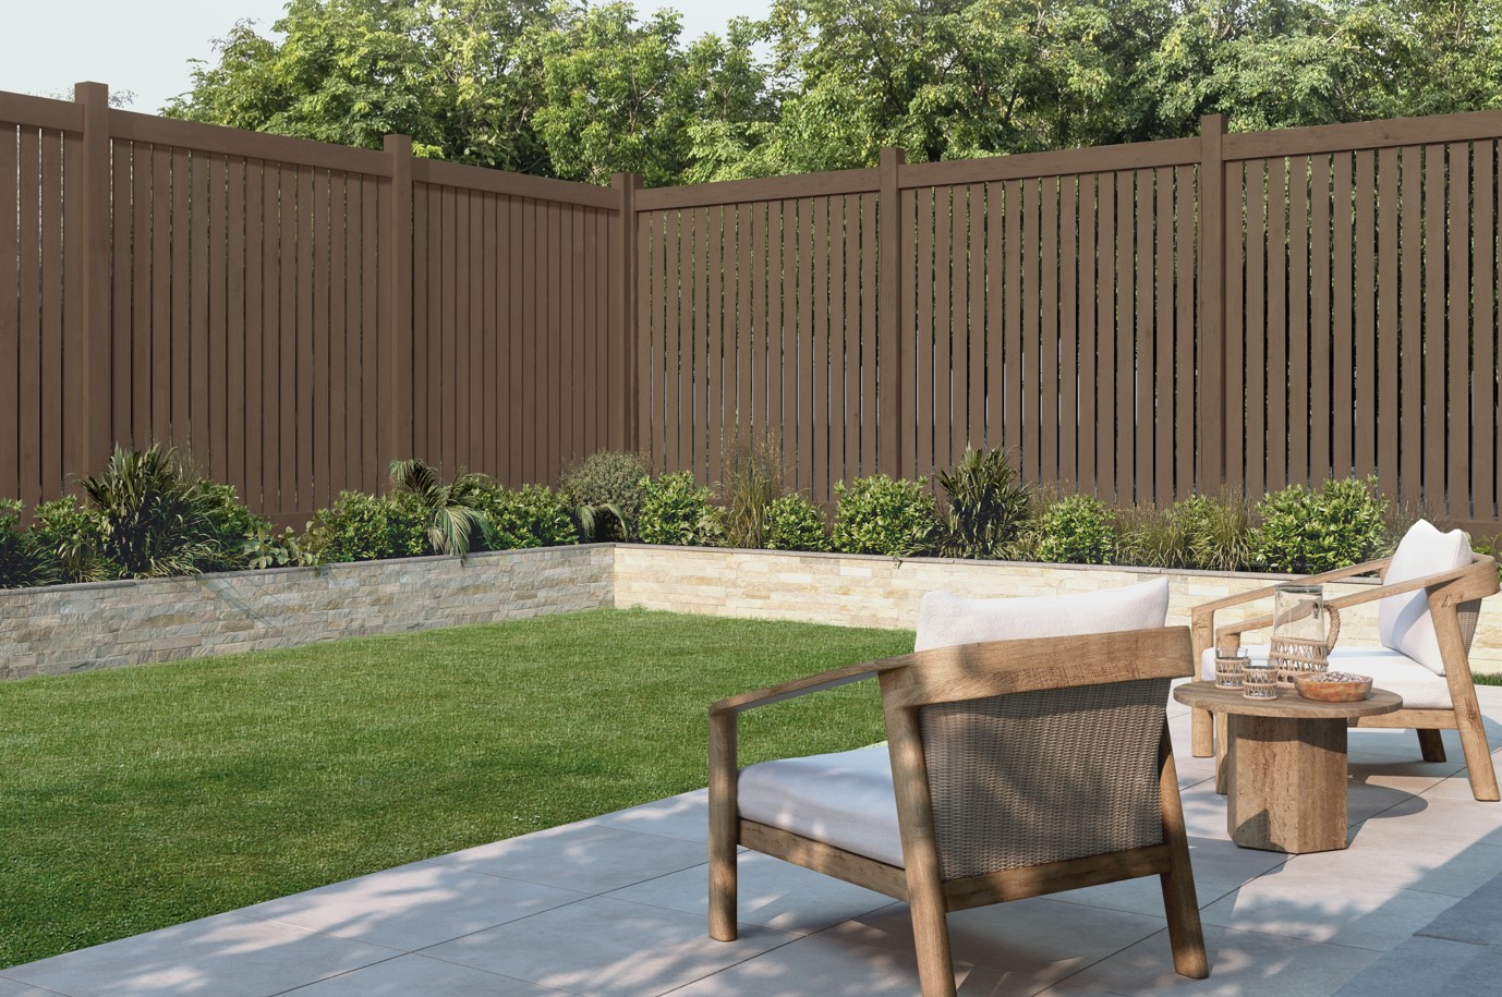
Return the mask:
[[412,138],[386,135],[391,156],[391,212],[385,225],[385,251],[391,261],[386,291],[385,342],[380,350],[382,467],[413,456],[412,426]]

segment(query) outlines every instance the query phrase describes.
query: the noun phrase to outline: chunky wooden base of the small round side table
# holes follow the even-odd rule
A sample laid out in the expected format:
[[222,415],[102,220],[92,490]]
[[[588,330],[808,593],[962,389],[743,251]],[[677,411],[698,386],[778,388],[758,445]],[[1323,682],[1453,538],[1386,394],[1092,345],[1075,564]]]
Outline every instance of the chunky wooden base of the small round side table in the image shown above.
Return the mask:
[[1346,721],[1230,715],[1226,830],[1242,848],[1346,847]]

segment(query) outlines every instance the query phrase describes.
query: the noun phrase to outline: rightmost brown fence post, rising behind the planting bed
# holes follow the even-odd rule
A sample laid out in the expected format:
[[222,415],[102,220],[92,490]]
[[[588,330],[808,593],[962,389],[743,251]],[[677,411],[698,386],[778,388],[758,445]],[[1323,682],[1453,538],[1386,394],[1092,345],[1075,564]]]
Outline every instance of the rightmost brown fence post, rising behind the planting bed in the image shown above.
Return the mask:
[[[1226,467],[1226,116],[1200,119],[1200,492],[1229,483]],[[1241,426],[1235,426],[1241,431]]]

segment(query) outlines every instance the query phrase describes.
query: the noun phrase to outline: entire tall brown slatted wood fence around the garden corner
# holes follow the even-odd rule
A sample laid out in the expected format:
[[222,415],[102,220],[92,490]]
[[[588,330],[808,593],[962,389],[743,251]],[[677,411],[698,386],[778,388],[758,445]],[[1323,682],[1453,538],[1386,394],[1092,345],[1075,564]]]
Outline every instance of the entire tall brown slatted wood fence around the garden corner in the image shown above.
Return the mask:
[[1376,474],[1497,527],[1502,113],[644,191],[0,93],[0,494],[167,440],[299,524],[422,456],[793,483],[967,443],[1164,505]]

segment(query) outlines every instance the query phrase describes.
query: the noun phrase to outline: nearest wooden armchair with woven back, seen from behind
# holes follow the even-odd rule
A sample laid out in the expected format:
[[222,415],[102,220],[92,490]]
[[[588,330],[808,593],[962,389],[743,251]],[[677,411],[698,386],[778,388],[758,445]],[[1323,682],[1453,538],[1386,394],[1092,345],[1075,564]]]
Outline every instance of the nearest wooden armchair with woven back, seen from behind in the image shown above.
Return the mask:
[[[1086,604],[994,602],[1069,601]],[[1164,586],[1158,625],[1166,608]],[[1069,616],[1060,628],[1053,614],[1051,629],[1111,619]],[[930,647],[716,703],[709,934],[736,938],[743,845],[907,901],[922,992],[937,997],[955,992],[949,911],[1158,875],[1175,968],[1208,976],[1164,719],[1170,679],[1190,671],[1187,628],[1131,629]],[[870,677],[888,748],[737,772],[742,712]]]

